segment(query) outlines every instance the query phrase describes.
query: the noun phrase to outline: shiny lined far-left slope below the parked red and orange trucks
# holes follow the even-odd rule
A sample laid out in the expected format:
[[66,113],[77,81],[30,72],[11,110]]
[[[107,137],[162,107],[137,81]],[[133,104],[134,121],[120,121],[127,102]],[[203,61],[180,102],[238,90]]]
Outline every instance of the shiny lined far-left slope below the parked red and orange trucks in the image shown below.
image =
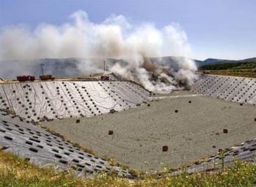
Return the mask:
[[148,101],[148,92],[128,81],[46,81],[0,84],[0,109],[27,121],[96,116]]

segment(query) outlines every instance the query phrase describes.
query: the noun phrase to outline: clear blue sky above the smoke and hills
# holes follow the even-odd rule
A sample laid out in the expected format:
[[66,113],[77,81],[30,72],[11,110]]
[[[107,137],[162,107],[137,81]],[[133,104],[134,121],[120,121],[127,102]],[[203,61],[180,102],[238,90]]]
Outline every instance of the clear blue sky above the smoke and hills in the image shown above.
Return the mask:
[[256,57],[255,0],[0,0],[0,33],[11,25],[27,25],[31,30],[41,23],[60,26],[77,10],[87,12],[93,23],[111,15],[123,15],[133,25],[152,23],[156,28],[177,23],[186,32],[189,58]]

